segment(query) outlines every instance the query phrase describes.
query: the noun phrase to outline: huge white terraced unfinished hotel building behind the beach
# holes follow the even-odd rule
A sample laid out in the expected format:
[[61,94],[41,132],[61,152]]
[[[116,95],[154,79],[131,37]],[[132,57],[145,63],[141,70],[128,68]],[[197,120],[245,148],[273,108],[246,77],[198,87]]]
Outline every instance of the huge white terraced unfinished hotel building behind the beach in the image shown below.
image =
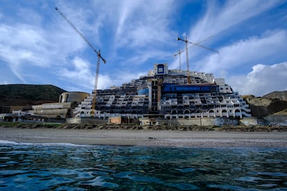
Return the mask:
[[93,94],[78,105],[76,117],[108,118],[198,118],[251,117],[246,102],[212,73],[168,70],[167,64],[155,64],[153,71],[121,87],[98,90],[96,113]]

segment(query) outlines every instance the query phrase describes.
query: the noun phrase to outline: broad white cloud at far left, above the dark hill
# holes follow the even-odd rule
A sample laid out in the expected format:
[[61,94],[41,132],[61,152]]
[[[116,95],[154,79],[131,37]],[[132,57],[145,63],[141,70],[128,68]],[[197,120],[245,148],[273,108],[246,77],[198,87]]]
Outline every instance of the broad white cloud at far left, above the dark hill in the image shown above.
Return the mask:
[[[74,31],[61,30],[61,26],[44,29],[24,23],[0,24],[0,33],[0,60],[10,67],[21,83],[31,83],[33,80],[26,78],[37,70],[49,68],[53,71],[55,66],[57,69],[67,66],[69,55],[87,46],[80,37],[74,38],[77,35]],[[38,75],[49,75],[46,72],[42,70]]]

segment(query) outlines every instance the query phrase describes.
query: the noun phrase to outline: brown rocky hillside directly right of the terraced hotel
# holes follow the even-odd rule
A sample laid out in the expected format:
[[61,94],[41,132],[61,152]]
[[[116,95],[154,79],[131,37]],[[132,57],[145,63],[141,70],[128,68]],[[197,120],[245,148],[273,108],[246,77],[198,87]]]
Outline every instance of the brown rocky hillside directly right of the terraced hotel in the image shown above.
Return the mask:
[[252,116],[266,117],[274,113],[286,113],[287,91],[274,91],[262,97],[243,96],[249,104]]

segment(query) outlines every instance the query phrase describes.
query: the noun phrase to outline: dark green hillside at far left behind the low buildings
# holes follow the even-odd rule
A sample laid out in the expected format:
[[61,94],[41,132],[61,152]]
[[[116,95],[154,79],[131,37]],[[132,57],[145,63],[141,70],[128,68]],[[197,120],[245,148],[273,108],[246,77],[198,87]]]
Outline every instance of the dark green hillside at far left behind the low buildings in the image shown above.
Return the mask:
[[33,104],[58,102],[63,92],[63,89],[53,85],[0,85],[0,113],[9,113],[10,106],[24,106],[24,109],[30,109]]

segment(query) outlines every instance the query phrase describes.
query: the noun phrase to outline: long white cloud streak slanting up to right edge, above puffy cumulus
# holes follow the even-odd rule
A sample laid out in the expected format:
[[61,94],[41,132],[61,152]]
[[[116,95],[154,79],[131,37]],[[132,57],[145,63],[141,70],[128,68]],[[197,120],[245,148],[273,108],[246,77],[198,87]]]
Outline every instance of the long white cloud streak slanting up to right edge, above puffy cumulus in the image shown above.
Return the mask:
[[196,62],[195,66],[200,71],[226,77],[234,69],[251,68],[256,62],[263,62],[270,57],[284,55],[287,49],[286,41],[287,31],[269,31],[262,37],[250,37],[250,39],[220,48],[219,55],[213,54],[205,57],[205,59]]

